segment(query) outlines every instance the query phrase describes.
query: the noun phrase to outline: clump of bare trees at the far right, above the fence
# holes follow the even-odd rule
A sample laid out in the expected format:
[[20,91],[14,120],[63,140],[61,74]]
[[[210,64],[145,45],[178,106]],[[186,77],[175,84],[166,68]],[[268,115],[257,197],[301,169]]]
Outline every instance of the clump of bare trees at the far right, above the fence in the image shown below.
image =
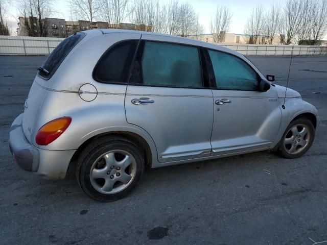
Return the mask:
[[[327,34],[327,0],[287,0],[264,9],[257,5],[245,24],[248,42],[317,45]],[[276,40],[275,40],[276,41]]]

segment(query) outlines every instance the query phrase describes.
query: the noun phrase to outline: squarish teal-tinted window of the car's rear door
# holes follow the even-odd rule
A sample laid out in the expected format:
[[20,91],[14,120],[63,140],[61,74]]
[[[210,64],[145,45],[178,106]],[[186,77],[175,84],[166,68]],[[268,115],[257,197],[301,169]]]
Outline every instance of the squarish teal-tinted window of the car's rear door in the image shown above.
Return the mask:
[[197,47],[146,41],[142,58],[144,85],[201,88]]

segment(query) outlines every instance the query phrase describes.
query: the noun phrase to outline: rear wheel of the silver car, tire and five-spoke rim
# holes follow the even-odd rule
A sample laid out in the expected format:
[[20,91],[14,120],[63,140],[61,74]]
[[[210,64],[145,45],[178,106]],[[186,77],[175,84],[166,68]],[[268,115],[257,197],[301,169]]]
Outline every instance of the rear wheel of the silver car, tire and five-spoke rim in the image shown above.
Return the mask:
[[119,136],[91,141],[76,166],[77,181],[88,197],[100,202],[124,198],[144,173],[144,154],[132,141]]

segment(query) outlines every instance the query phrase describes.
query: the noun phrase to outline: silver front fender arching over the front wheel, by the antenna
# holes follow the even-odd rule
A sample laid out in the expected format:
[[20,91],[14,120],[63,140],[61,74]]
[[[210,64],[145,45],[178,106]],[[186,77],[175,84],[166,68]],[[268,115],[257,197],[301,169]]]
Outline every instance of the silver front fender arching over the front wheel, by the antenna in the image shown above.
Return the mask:
[[[283,134],[286,131],[287,126],[290,124],[290,122],[297,116],[303,114],[303,113],[311,113],[316,117],[317,120],[317,127],[319,124],[319,117],[318,117],[318,111],[317,109],[311,105],[310,103],[303,101],[300,97],[296,98],[286,98],[285,104],[284,98],[281,100],[279,98],[279,106],[282,110],[282,122],[281,126],[279,127],[277,137],[272,144],[275,146],[283,137]],[[282,109],[282,105],[285,105],[285,109]]]

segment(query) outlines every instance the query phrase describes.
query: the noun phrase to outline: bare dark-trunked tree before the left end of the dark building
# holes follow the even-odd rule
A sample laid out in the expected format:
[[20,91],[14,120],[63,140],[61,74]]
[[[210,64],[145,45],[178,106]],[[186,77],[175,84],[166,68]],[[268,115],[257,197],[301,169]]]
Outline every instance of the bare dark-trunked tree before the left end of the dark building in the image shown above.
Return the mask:
[[29,36],[46,37],[48,29],[45,17],[55,13],[52,0],[22,0],[19,3],[22,25]]

